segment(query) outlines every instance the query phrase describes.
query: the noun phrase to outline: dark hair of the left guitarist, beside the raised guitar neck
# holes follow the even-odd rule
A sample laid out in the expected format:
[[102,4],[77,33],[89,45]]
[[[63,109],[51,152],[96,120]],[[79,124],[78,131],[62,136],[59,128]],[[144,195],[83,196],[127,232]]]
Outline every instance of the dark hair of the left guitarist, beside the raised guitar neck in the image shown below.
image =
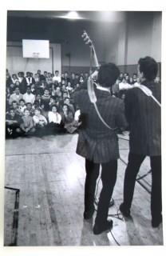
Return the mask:
[[98,72],[98,82],[103,87],[110,87],[116,82],[120,75],[120,70],[113,63],[104,64]]

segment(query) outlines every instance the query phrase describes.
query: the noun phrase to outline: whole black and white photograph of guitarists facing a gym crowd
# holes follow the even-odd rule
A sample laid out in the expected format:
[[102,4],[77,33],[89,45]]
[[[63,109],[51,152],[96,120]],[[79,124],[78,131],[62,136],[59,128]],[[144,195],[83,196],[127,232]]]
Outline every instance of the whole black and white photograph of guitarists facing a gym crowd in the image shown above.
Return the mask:
[[7,10],[3,246],[164,246],[162,16]]

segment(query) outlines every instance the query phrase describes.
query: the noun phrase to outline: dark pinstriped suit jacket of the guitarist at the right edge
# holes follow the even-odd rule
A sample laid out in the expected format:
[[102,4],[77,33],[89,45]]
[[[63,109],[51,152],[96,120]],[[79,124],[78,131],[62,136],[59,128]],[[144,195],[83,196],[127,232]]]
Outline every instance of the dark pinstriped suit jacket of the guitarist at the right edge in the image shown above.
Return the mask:
[[[160,84],[145,81],[160,102]],[[128,90],[124,99],[125,114],[130,126],[130,152],[155,156],[161,154],[160,106],[139,88]]]

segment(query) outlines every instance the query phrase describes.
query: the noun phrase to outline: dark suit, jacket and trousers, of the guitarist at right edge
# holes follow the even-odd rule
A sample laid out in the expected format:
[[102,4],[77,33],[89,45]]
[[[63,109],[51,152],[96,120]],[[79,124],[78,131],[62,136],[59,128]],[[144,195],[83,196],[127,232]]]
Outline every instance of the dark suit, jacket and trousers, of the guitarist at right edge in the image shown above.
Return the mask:
[[[160,85],[153,81],[144,81],[144,86],[160,102]],[[124,209],[132,205],[136,175],[146,156],[150,157],[152,170],[151,214],[152,222],[161,219],[161,120],[160,106],[139,88],[128,90],[125,103],[125,114],[128,120],[129,154],[128,166],[124,175]]]

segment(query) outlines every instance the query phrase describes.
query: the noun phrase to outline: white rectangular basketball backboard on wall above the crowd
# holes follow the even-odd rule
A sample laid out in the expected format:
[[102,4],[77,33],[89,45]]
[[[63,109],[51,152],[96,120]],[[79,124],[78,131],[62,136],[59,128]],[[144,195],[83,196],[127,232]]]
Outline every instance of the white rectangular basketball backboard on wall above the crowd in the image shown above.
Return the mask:
[[49,40],[22,39],[23,58],[49,58]]

